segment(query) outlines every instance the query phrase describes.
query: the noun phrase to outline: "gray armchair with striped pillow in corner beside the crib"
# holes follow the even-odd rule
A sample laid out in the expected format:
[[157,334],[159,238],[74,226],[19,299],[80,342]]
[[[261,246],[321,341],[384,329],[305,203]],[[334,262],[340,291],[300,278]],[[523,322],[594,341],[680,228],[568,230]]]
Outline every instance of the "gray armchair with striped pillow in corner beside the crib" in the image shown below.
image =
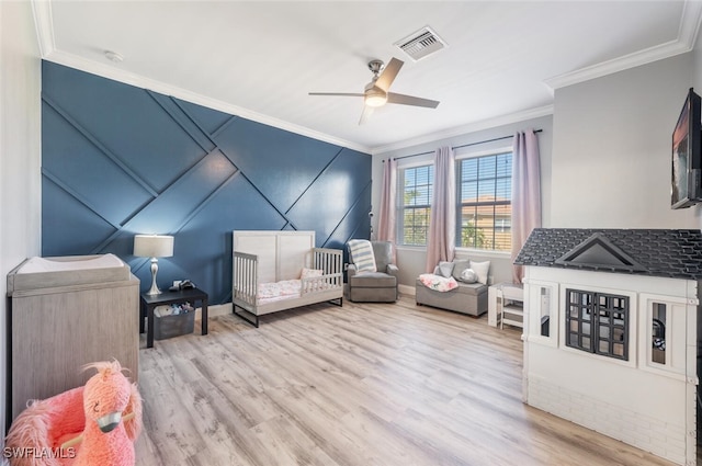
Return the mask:
[[398,269],[393,263],[393,243],[371,241],[377,272],[359,272],[349,251],[349,299],[352,302],[395,303],[398,297]]

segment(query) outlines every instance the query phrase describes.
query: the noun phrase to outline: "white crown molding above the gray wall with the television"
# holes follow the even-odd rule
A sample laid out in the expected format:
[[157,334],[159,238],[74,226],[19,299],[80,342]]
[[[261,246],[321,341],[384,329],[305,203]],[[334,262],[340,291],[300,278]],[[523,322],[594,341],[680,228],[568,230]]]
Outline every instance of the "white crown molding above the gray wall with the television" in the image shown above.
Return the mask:
[[682,5],[682,15],[680,18],[680,27],[678,29],[677,39],[634,52],[633,54],[624,55],[611,60],[602,61],[576,71],[555,76],[546,79],[544,83],[555,90],[690,52],[694,47],[698,32],[700,30],[701,19],[702,2],[687,0]]

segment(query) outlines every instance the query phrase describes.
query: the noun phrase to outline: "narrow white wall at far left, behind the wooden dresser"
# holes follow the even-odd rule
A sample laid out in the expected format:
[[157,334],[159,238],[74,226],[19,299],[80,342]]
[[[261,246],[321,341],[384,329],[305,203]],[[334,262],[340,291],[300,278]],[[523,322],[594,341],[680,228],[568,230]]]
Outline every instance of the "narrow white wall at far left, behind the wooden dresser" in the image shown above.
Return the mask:
[[[0,292],[41,253],[42,62],[30,2],[0,1]],[[0,299],[0,429],[5,432],[7,312]],[[27,368],[29,370],[29,368]],[[4,440],[2,441],[4,446]]]

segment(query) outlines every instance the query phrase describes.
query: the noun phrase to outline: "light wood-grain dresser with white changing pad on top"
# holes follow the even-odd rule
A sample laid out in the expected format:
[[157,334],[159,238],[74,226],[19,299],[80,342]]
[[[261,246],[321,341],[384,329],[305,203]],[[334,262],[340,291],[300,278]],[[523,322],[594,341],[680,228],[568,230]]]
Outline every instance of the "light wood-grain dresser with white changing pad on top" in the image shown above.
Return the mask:
[[138,375],[139,280],[128,265],[23,273],[27,261],[8,274],[8,427],[29,400],[84,385],[94,373],[84,364],[114,359]]

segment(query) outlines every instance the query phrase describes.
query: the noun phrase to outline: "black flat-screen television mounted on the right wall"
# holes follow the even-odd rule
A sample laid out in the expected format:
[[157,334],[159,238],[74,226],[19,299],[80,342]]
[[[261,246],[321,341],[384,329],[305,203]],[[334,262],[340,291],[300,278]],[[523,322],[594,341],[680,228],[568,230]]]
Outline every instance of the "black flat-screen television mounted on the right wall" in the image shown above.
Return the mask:
[[672,132],[671,208],[690,207],[702,202],[702,123],[701,103],[692,88]]

